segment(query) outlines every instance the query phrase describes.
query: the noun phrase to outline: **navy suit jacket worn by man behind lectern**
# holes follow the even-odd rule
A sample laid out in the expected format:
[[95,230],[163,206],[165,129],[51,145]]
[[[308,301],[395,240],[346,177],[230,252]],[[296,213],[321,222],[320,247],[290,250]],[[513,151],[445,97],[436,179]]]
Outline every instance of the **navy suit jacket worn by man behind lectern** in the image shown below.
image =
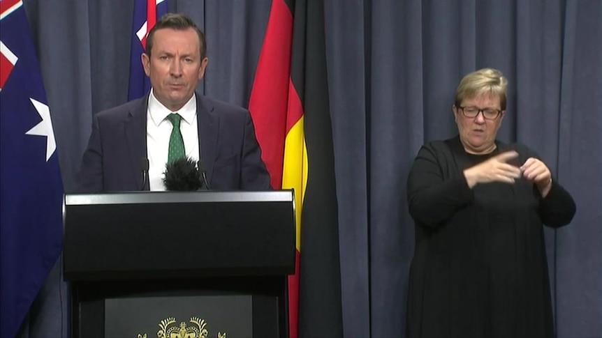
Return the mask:
[[[78,192],[146,190],[148,95],[94,116],[88,148],[78,174]],[[247,109],[196,93],[200,157],[213,190],[269,190]]]

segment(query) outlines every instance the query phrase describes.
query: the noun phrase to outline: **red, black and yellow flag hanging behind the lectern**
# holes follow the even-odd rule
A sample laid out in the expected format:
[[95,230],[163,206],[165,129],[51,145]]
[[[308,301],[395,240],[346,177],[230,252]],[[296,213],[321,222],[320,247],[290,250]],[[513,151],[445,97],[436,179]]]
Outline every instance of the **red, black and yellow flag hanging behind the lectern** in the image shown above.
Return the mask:
[[291,338],[342,337],[335,158],[321,0],[272,0],[249,109],[274,188],[295,189]]

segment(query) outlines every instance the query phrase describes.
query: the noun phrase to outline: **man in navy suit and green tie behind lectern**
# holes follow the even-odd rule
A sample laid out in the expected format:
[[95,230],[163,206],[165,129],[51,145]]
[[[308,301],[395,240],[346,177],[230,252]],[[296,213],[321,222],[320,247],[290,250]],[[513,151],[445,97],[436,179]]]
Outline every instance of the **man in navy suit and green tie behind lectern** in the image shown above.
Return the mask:
[[152,89],[94,116],[78,190],[166,190],[163,172],[175,148],[205,163],[214,190],[270,189],[249,111],[195,92],[206,50],[205,35],[186,15],[156,23],[142,54]]

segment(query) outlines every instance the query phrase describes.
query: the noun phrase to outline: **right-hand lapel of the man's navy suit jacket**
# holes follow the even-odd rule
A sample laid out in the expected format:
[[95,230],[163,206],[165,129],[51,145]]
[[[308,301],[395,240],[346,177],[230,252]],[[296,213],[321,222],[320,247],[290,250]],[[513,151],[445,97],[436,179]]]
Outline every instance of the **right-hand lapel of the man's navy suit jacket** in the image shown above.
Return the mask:
[[196,95],[196,123],[198,128],[199,159],[203,160],[207,168],[207,180],[213,177],[213,164],[218,137],[219,116],[214,114],[214,107],[201,95]]

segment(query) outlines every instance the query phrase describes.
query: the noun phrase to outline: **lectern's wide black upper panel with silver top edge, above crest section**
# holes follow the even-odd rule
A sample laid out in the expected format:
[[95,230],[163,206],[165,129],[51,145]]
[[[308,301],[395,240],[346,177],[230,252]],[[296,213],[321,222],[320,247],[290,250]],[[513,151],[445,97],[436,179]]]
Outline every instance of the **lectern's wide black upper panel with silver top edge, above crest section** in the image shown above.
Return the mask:
[[294,222],[292,192],[68,195],[64,275],[106,280],[292,274]]

